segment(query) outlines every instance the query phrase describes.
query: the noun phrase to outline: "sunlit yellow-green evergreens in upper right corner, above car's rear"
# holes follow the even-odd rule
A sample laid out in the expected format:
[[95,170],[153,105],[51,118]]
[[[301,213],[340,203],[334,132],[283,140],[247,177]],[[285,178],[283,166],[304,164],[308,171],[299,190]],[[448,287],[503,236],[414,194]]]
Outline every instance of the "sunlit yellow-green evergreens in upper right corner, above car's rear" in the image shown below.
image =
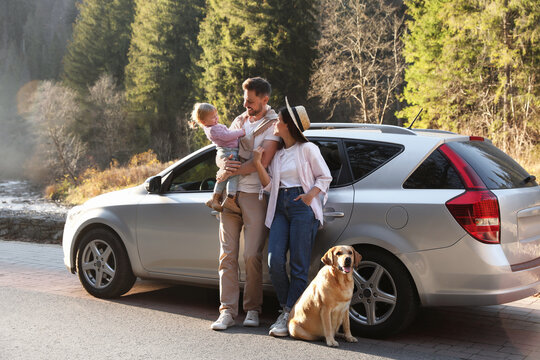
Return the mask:
[[[534,0],[407,0],[404,99],[415,126],[538,141],[540,3]],[[509,133],[510,132],[510,133]],[[504,134],[501,136],[501,134]],[[520,144],[521,143],[521,144]]]

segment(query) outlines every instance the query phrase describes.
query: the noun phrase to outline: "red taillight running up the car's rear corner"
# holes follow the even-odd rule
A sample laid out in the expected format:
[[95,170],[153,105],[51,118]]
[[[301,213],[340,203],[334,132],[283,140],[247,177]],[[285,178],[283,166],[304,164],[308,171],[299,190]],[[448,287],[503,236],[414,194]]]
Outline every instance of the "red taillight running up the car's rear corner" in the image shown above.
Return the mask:
[[474,169],[449,146],[439,148],[456,168],[465,184],[465,193],[450,199],[446,207],[456,221],[475,239],[500,243],[499,200],[489,191]]

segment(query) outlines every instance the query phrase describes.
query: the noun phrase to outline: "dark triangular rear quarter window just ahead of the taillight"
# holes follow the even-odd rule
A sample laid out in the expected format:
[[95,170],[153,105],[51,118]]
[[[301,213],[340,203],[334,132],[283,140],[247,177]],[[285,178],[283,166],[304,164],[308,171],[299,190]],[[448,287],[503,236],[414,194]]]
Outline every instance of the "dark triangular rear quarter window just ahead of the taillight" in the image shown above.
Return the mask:
[[405,189],[463,189],[463,183],[450,161],[435,150],[403,184]]

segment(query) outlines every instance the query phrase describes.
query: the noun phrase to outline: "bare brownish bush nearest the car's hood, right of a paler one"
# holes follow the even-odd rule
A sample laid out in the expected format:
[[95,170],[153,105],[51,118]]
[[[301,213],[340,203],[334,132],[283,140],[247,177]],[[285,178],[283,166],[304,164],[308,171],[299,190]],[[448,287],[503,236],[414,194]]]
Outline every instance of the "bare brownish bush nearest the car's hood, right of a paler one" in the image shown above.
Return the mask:
[[129,127],[125,94],[111,75],[102,74],[89,88],[88,102],[91,108],[88,126],[93,134],[89,151],[95,160],[106,166],[113,158],[127,156]]

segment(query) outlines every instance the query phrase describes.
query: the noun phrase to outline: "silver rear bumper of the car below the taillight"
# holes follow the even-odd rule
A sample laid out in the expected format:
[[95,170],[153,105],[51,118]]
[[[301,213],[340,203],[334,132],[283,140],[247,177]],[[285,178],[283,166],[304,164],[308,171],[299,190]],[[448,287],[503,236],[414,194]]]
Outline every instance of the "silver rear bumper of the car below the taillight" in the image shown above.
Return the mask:
[[423,306],[495,305],[540,292],[540,266],[513,270],[500,245],[469,236],[448,248],[404,254],[403,261],[421,284]]

